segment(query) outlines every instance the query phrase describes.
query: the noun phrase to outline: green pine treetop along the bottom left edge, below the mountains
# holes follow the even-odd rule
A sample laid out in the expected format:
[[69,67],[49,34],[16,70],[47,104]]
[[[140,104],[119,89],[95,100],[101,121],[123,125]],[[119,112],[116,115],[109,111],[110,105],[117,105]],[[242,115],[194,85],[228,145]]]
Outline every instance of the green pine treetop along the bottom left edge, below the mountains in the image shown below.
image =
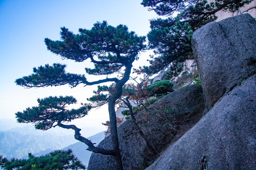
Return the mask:
[[72,150],[56,150],[43,156],[36,157],[28,153],[28,159],[10,160],[0,155],[0,167],[3,170],[85,170],[86,167],[79,161]]

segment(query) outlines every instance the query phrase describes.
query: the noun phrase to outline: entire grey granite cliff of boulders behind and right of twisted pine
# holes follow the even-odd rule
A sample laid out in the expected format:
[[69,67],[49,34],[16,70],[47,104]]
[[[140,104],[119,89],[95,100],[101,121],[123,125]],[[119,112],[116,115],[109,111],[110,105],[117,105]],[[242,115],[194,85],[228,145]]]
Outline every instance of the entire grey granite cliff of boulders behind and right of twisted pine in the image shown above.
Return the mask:
[[[151,163],[146,170],[195,170],[202,156],[210,170],[256,169],[255,19],[243,14],[202,26],[192,48],[202,86],[183,87],[142,110],[139,129],[132,120],[119,127],[125,170]],[[99,146],[109,148],[110,138]],[[116,170],[115,161],[93,153],[88,170]]]

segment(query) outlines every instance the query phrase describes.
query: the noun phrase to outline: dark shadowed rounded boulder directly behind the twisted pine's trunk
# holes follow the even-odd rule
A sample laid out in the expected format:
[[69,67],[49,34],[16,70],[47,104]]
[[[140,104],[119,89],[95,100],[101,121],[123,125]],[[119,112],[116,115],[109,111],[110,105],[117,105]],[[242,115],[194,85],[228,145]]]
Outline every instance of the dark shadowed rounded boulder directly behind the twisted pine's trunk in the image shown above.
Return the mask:
[[[119,147],[124,170],[141,170],[149,161],[153,161],[175,137],[185,131],[178,130],[183,126],[191,128],[201,119],[204,110],[201,85],[190,85],[167,94],[164,98],[149,106],[147,110],[137,113],[137,125],[146,137],[139,134],[134,121],[128,119],[118,128]],[[181,132],[181,133],[180,133]],[[110,136],[99,145],[111,148]],[[117,170],[112,156],[92,153],[88,170]]]

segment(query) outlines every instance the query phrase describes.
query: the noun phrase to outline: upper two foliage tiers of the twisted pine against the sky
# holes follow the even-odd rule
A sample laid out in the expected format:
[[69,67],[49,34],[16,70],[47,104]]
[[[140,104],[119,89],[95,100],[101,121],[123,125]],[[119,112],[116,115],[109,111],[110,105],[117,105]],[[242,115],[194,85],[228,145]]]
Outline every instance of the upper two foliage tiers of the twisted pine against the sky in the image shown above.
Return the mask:
[[[60,55],[62,59],[82,62],[90,59],[94,68],[85,68],[90,75],[110,75],[137,59],[137,54],[146,49],[145,36],[137,36],[128,31],[128,27],[109,26],[106,21],[97,22],[91,28],[79,29],[73,34],[67,28],[61,28],[61,41],[45,39],[47,49]],[[117,78],[106,78],[96,82],[88,82],[84,75],[67,73],[65,65],[55,63],[33,68],[34,74],[16,80],[17,85],[25,87],[46,87],[68,84],[75,87],[79,84],[95,85],[105,82],[117,82]]]

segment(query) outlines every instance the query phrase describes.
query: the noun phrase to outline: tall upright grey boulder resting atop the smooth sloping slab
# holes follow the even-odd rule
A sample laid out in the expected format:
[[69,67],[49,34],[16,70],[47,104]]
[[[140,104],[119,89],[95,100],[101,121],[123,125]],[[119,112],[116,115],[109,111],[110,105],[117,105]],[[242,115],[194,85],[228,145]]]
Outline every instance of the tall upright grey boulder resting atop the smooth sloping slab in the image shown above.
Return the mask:
[[192,49],[206,108],[256,73],[256,20],[249,14],[211,22],[195,31]]

